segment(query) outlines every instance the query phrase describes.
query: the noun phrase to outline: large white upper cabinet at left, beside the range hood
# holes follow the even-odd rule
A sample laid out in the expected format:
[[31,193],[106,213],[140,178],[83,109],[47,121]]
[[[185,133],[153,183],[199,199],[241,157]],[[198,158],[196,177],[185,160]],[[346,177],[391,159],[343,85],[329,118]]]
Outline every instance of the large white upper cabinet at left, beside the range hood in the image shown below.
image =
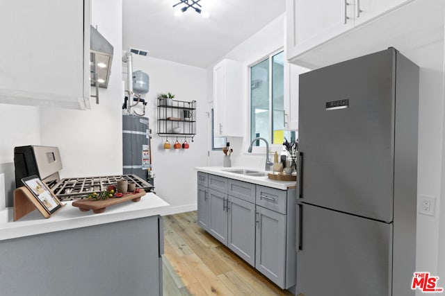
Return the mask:
[[90,108],[90,0],[3,1],[0,103]]

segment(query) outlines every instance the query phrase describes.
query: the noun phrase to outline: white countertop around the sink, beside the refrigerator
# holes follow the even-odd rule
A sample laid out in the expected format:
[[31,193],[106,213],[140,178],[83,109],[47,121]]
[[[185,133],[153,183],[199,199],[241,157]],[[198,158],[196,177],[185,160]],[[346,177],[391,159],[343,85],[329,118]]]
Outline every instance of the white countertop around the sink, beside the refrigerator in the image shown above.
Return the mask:
[[[243,167],[237,167],[232,166],[230,168],[227,168],[225,166],[200,166],[195,168],[196,171],[200,171],[203,173],[209,173],[213,175],[218,175],[221,177],[228,177],[230,179],[234,180],[240,180],[244,182],[249,182],[253,184],[268,186],[276,189],[282,189],[287,190],[289,187],[295,187],[297,185],[296,181],[277,181],[277,180],[271,180],[267,176],[264,177],[252,177],[249,175],[242,175],[242,174],[236,174],[236,173],[230,173],[229,171],[236,170],[236,169],[245,169],[245,170],[252,170],[252,171],[259,171],[257,169],[253,168],[243,168]],[[227,171],[229,170],[229,171]]]

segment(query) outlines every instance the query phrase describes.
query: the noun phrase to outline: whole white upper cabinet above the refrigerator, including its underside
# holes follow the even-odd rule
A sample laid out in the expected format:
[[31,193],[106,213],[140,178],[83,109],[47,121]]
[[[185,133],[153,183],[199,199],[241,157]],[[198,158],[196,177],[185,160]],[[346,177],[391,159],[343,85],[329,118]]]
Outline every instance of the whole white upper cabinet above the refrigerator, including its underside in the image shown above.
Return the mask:
[[424,8],[440,1],[286,0],[286,58],[317,68],[396,47],[431,22]]

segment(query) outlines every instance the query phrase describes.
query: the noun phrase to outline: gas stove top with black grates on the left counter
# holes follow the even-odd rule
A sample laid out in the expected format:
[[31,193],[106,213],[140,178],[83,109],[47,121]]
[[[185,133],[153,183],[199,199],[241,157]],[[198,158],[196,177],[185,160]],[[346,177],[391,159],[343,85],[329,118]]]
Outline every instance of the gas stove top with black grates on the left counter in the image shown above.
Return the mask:
[[152,185],[136,175],[111,175],[102,177],[74,177],[47,183],[60,201],[80,200],[93,192],[106,191],[110,185],[117,185],[118,180],[127,180],[136,184],[136,188],[150,191]]

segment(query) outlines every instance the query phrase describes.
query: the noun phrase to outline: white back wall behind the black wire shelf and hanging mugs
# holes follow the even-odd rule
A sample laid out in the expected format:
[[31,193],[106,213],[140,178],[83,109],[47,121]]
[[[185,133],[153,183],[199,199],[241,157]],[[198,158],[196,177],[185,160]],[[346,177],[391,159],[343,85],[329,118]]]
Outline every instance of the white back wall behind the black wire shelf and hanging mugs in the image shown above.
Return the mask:
[[[124,64],[124,77],[127,69]],[[206,70],[151,57],[133,55],[133,71],[144,71],[149,75],[149,92],[146,116],[152,129],[152,169],[156,175],[154,185],[159,195],[172,207],[169,213],[197,209],[196,166],[207,165],[207,89]],[[160,93],[171,92],[178,101],[197,101],[197,132],[188,150],[163,149],[164,137],[157,132],[156,98]],[[141,113],[139,108],[136,112]],[[169,137],[173,145],[175,137]],[[182,143],[184,138],[179,138]]]

